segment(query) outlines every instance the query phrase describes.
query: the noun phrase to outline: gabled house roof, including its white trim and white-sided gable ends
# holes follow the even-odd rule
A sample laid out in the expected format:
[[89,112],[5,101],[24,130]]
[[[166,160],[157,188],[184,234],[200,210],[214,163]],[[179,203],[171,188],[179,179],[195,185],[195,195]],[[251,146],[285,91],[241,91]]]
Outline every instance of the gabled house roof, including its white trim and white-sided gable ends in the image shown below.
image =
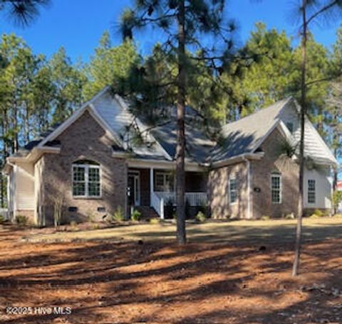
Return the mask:
[[[298,124],[298,109],[299,105],[295,99],[290,97],[280,100],[247,117],[222,126],[222,141],[219,144],[209,139],[195,120],[186,117],[186,162],[222,163],[237,156],[257,153],[263,141],[276,127],[279,127],[287,138],[298,141],[300,135],[298,125],[293,134],[286,127],[286,121],[289,120],[297,121]],[[130,112],[128,103],[123,98],[111,93],[110,87],[105,87],[61,125],[50,129],[43,138],[28,144],[23,153],[27,155],[35,147],[56,146],[56,137],[86,111],[90,112],[100,126],[113,137],[115,141],[113,151],[127,151],[128,147],[123,138],[127,127],[134,121],[135,126],[145,133],[145,143],[133,144],[130,151],[132,158],[157,161],[175,159],[177,143],[175,116],[172,115],[170,121],[149,129],[147,124]],[[337,163],[309,119],[306,119],[305,140],[307,155],[314,156],[316,161],[321,163]]]

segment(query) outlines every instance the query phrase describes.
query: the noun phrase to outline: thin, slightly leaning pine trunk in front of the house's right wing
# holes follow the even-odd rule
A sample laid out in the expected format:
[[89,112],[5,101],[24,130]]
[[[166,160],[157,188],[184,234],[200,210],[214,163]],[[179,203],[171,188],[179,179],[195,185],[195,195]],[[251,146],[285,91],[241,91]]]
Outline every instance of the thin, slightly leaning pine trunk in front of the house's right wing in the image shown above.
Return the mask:
[[305,131],[305,115],[306,115],[306,41],[307,41],[307,25],[306,25],[306,0],[303,0],[303,36],[301,38],[301,140],[299,145],[299,206],[298,220],[296,228],[296,244],[294,267],[292,276],[297,276],[299,271],[299,260],[301,256],[301,227],[304,212],[304,131]]

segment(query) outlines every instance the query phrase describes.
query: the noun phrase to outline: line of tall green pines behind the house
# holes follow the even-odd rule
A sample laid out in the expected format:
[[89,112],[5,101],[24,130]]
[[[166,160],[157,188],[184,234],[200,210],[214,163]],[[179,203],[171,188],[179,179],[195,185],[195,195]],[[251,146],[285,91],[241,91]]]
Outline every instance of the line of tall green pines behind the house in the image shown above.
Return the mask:
[[[299,97],[301,50],[293,43],[284,31],[267,29],[264,23],[257,23],[236,53],[247,59],[234,60],[219,72],[203,60],[193,61],[187,76],[187,104],[195,107],[207,124],[217,126],[286,96]],[[339,157],[342,83],[338,77],[331,80],[328,76],[331,71],[341,70],[342,27],[331,48],[317,43],[311,34],[307,47],[308,114]],[[105,31],[89,62],[75,63],[65,48],[46,58],[33,53],[23,39],[3,34],[0,40],[1,165],[6,156],[53,124],[61,123],[105,85],[112,85],[115,92],[134,100],[135,109],[140,109],[142,114],[144,102],[156,113],[161,105],[175,104],[177,91],[172,76],[176,74],[175,58],[160,43],[152,48],[150,55],[142,57],[133,41],[126,39],[113,46],[110,33]],[[4,204],[6,184],[2,183]]]

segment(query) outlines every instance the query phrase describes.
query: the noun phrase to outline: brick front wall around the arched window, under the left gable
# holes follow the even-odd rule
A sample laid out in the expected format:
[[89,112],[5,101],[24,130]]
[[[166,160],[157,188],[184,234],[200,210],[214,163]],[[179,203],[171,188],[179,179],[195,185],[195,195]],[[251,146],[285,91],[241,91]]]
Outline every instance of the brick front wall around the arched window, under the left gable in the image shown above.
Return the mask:
[[[103,128],[85,112],[66,129],[58,140],[61,141],[61,153],[46,153],[38,161],[41,168],[41,190],[37,193],[41,212],[46,216],[46,225],[53,222],[53,197],[64,198],[64,221],[87,220],[90,215],[100,220],[104,215],[113,214],[121,206],[125,210],[127,166],[124,159],[113,158],[114,144]],[[73,198],[72,163],[79,160],[92,160],[101,168],[101,198]],[[71,212],[69,207],[76,207]],[[105,212],[98,212],[105,207]],[[37,217],[39,218],[39,216]]]

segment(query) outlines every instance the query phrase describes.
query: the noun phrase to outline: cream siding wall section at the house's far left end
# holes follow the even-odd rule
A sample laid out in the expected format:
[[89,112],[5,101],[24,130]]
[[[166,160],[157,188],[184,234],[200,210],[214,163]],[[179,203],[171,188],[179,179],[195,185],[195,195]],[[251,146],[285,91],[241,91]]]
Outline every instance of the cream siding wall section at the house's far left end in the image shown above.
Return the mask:
[[31,163],[21,163],[14,169],[16,180],[16,210],[34,210],[34,171]]

